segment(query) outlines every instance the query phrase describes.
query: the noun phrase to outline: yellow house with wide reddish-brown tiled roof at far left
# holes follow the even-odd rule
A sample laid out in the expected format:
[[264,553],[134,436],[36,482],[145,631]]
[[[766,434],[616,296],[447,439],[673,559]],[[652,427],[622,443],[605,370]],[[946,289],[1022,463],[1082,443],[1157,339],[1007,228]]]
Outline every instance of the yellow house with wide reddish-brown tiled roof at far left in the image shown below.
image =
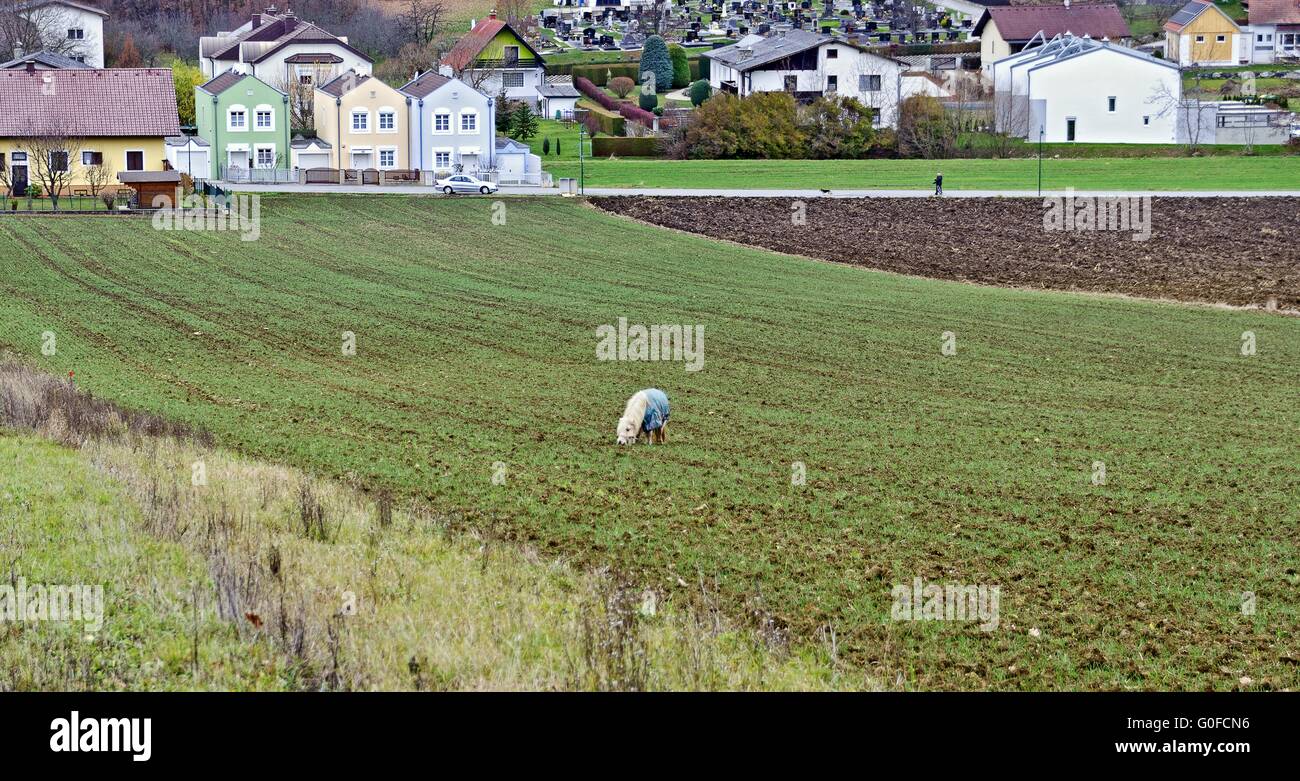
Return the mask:
[[[179,133],[168,69],[0,70],[0,168],[12,192],[35,183],[40,164],[30,155],[38,146],[77,190],[96,165],[161,170],[166,138]],[[42,138],[66,139],[66,148],[48,151]]]

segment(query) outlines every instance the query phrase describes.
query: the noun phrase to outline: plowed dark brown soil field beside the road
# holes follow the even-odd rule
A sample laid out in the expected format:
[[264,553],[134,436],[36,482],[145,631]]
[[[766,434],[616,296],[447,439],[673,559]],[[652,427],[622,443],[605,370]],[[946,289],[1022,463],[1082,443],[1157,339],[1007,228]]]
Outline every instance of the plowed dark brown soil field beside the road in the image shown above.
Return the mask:
[[[939,279],[1300,309],[1300,199],[1154,198],[1150,238],[1045,230],[1039,199],[593,199],[712,238]],[[1075,204],[1075,209],[1082,208]]]

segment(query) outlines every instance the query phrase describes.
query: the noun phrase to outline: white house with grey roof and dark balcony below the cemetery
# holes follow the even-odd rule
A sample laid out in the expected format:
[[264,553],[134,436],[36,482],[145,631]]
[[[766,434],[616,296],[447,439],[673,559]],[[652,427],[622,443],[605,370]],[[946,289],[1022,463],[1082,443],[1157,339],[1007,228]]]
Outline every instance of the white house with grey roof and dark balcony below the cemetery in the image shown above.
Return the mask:
[[790,30],[768,38],[746,35],[703,56],[715,92],[741,97],[754,92],[790,92],[797,100],[844,95],[874,108],[878,127],[898,125],[902,71],[907,65],[857,44]]

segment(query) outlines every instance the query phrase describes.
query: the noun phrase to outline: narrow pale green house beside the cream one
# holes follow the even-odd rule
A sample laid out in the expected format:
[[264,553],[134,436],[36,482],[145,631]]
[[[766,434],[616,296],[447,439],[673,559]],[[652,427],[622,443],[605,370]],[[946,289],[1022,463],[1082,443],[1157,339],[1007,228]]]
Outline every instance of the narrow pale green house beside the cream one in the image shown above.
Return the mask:
[[[211,148],[208,179],[248,169],[287,169],[289,95],[260,78],[228,70],[194,88],[198,134]],[[228,174],[228,169],[234,169]]]

